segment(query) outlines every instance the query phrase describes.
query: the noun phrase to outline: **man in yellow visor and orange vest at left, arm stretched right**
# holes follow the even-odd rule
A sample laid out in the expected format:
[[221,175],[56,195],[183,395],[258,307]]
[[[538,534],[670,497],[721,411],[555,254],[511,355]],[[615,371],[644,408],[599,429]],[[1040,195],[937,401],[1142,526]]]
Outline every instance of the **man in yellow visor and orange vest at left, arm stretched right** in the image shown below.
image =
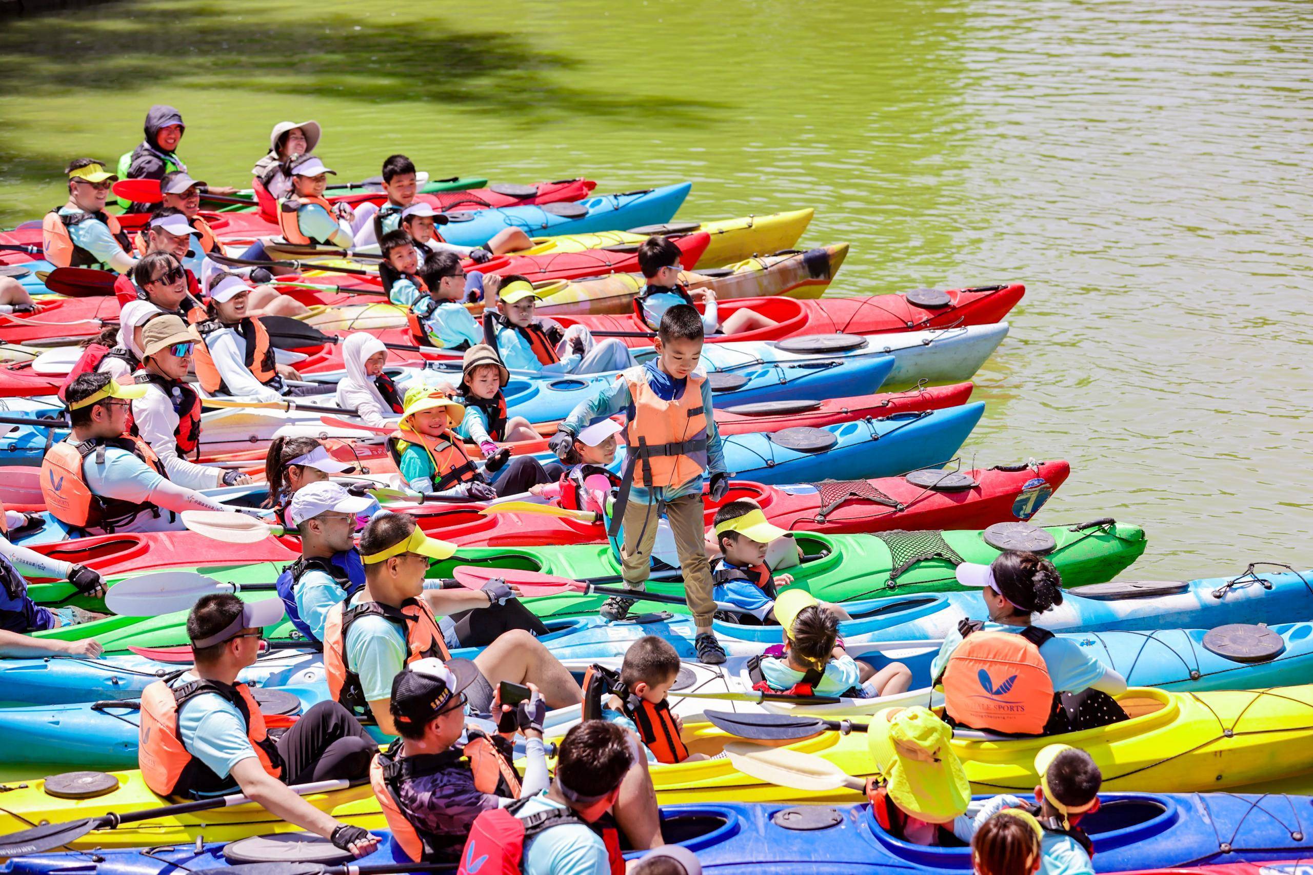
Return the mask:
[[155,451],[126,434],[144,386],[81,374],[64,392],[71,434],[46,451],[41,493],[50,513],[84,535],[183,529],[184,510],[234,509],[168,479]]

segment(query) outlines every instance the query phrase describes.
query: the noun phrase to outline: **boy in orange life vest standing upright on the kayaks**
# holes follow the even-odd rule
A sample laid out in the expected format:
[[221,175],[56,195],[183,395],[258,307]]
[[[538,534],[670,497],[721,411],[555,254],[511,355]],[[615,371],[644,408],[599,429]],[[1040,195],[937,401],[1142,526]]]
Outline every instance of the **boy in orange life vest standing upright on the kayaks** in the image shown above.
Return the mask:
[[[702,356],[702,320],[687,304],[671,307],[662,316],[656,337],[656,361],[632,367],[591,400],[576,407],[549,447],[563,458],[586,425],[625,412],[625,475],[616,500],[622,518],[620,560],[625,586],[641,593],[651,568],[651,550],[662,512],[684,572],[684,593],[697,626],[695,647],[702,662],[721,664],[725,649],[712,632],[712,573],[702,547],[702,483],[710,475],[710,497],[720,501],[729,489],[725,453],[716,430],[712,388],[696,370]],[[624,514],[622,517],[620,514]],[[622,619],[635,598],[612,596],[601,607],[604,619]]]

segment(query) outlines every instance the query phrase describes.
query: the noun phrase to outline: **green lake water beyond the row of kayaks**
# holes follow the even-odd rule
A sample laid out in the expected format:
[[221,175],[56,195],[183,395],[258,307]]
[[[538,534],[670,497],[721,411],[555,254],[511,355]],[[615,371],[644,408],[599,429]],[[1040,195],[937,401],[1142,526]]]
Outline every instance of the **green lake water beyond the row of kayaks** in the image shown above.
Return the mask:
[[[193,176],[269,127],[433,176],[692,180],[688,218],[813,206],[834,294],[1016,279],[968,464],[1066,458],[1037,521],[1149,530],[1142,577],[1313,565],[1313,4],[106,3],[0,20],[0,222],[179,106]],[[1304,425],[1301,425],[1304,422]],[[1285,618],[1295,619],[1295,618]]]

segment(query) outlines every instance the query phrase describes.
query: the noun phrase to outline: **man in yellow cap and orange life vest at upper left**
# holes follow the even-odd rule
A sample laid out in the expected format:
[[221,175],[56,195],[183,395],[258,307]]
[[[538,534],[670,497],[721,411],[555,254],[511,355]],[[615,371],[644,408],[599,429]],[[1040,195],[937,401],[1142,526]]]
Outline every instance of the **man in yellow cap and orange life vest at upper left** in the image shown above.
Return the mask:
[[74,159],[68,174],[68,201],[41,223],[41,245],[56,268],[96,268],[127,273],[137,258],[127,253],[127,235],[118,219],[105,213],[109,189],[118,180],[91,157]]

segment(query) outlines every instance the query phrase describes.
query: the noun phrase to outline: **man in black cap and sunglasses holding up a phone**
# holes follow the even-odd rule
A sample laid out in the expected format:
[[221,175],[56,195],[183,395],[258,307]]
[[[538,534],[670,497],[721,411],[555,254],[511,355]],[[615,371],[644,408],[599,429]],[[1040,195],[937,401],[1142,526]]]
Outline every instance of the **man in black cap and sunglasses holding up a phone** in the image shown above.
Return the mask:
[[[393,830],[393,845],[414,862],[454,863],[474,819],[546,788],[546,715],[537,690],[512,710],[509,732],[486,735],[465,723],[465,689],[479,672],[469,660],[423,659],[393,681],[391,714],[400,739],[374,757],[370,782]],[[500,702],[494,711],[503,712]],[[524,735],[524,778],[513,739]]]

